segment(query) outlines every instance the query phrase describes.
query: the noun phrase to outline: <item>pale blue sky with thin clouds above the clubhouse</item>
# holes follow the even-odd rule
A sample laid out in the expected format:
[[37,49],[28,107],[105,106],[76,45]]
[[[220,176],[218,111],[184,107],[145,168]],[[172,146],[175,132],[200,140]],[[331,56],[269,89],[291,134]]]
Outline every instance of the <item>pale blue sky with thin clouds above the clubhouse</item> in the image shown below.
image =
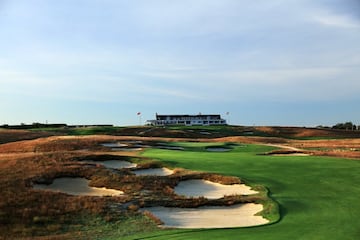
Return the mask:
[[0,124],[360,124],[359,78],[357,0],[0,0]]

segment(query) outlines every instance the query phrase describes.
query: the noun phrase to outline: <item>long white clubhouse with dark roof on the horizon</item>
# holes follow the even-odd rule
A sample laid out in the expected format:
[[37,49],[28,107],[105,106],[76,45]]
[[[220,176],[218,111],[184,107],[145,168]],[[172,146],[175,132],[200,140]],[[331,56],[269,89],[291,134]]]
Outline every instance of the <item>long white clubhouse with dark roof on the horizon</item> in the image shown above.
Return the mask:
[[197,115],[158,115],[155,120],[147,120],[152,126],[165,125],[225,125],[226,120],[220,114],[197,114]]

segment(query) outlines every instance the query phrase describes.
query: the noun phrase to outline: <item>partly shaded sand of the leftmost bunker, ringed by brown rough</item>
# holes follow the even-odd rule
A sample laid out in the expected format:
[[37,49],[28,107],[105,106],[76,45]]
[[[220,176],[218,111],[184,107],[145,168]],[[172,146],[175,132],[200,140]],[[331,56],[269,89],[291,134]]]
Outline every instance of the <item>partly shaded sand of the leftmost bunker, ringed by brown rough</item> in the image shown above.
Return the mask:
[[50,185],[34,184],[34,189],[50,190],[81,196],[119,196],[124,194],[123,191],[115,189],[90,187],[89,180],[85,178],[69,177],[56,178]]

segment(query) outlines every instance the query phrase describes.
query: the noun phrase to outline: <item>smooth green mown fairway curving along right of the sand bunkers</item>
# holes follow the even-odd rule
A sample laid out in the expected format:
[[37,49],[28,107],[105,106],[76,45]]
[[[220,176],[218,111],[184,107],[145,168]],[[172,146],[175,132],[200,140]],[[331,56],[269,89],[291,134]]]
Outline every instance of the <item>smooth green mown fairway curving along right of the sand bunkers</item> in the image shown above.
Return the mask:
[[[161,230],[128,239],[360,239],[360,161],[312,156],[264,156],[257,145],[213,153],[204,144],[185,151],[151,149],[144,156],[168,166],[238,176],[269,188],[280,204],[278,223],[235,229]],[[229,221],[231,221],[229,219]]]

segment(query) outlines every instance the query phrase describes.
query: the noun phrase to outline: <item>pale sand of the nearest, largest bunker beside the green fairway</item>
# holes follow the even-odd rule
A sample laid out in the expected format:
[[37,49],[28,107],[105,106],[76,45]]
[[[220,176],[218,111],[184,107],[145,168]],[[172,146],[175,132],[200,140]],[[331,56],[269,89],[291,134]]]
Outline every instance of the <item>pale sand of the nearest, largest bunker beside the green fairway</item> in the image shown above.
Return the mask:
[[199,208],[145,208],[169,228],[232,228],[258,226],[269,221],[255,216],[263,210],[261,204],[246,203],[233,206]]

